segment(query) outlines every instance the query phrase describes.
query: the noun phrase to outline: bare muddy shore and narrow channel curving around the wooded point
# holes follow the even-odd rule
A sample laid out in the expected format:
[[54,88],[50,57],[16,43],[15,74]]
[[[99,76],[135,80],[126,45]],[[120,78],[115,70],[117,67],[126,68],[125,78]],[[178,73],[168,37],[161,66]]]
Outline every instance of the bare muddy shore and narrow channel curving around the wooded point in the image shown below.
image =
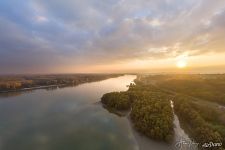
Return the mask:
[[[181,128],[180,121],[173,111],[174,120],[173,120],[173,126],[174,126],[174,137],[172,142],[165,143],[156,141],[153,139],[148,138],[144,134],[138,132],[134,124],[132,123],[132,120],[130,118],[131,109],[129,110],[116,110],[107,107],[106,105],[99,102],[104,108],[106,108],[110,113],[113,113],[119,117],[125,117],[128,122],[128,128],[132,132],[132,135],[135,139],[135,143],[137,144],[137,150],[174,150],[179,149],[180,146],[182,146],[182,150],[189,150],[189,145],[179,145],[179,143],[183,140],[184,142],[192,142],[193,141],[189,138],[188,134],[185,133],[185,131]],[[171,107],[173,109],[173,103],[171,103]],[[191,146],[192,150],[197,150],[196,145]]]

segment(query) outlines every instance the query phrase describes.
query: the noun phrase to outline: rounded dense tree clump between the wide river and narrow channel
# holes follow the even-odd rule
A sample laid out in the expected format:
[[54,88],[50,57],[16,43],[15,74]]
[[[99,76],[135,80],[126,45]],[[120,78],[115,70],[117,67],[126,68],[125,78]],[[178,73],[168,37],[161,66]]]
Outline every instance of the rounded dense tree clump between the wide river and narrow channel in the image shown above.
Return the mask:
[[117,110],[131,108],[130,118],[139,132],[155,140],[171,141],[173,112],[170,96],[155,92],[154,87],[136,84],[131,84],[127,92],[104,94],[102,103]]

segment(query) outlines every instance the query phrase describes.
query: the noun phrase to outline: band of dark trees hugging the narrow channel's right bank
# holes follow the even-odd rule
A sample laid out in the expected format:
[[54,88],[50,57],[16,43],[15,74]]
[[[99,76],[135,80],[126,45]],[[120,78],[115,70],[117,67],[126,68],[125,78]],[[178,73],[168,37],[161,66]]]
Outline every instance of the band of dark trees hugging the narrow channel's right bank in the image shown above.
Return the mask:
[[[195,106],[196,105],[192,102],[191,98],[184,95],[179,95],[174,98],[175,113],[185,125],[185,130],[188,131],[190,136],[200,143],[200,145],[209,142],[224,143],[224,126],[217,127],[216,125],[211,124],[211,122],[206,121],[203,117],[205,114],[199,113],[199,109],[195,109]],[[200,109],[203,110],[205,108],[200,107]],[[212,112],[212,110],[203,111]],[[214,115],[212,114],[207,118],[213,120],[213,116]],[[217,149],[219,148],[217,147]]]

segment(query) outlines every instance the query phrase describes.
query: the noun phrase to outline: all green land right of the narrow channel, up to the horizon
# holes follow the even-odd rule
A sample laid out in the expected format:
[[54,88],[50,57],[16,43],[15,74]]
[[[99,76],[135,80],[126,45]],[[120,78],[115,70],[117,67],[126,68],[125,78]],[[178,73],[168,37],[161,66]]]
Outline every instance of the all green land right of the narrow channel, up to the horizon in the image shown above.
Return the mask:
[[149,75],[138,78],[142,84],[150,84],[174,96],[175,113],[184,130],[200,146],[209,142],[222,142],[225,148],[224,74]]

